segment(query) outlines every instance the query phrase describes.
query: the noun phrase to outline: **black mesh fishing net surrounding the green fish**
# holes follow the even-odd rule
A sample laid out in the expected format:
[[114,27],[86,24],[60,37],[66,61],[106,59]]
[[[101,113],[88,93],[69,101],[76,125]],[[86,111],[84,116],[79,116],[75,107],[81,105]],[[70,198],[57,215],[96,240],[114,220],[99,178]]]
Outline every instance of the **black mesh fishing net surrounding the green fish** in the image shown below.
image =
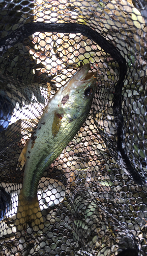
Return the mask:
[[[146,2],[0,2],[0,255],[147,252]],[[48,101],[85,63],[92,110],[38,185],[43,230],[15,226],[18,158]]]

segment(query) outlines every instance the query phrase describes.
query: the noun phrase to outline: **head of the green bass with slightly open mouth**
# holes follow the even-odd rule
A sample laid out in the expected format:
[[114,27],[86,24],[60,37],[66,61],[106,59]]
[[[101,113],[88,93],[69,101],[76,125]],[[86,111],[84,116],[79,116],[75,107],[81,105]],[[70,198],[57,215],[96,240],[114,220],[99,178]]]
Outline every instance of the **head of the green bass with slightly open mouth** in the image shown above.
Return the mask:
[[[89,72],[90,64],[82,66],[68,81],[62,94],[63,108],[71,120],[87,116],[90,112],[96,88],[96,72]],[[88,73],[89,72],[89,73]]]

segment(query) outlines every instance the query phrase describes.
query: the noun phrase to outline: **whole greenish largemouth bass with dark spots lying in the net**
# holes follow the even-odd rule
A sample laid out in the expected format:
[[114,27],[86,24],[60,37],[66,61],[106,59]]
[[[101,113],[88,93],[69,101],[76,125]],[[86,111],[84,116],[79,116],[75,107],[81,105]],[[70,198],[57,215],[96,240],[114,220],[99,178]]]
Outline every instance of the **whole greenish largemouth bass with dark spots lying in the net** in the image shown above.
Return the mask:
[[29,224],[34,231],[44,228],[37,197],[39,180],[44,170],[64,150],[86,120],[96,88],[96,72],[82,66],[48,102],[36,131],[26,142],[18,159],[24,167],[22,189],[18,199],[16,229]]

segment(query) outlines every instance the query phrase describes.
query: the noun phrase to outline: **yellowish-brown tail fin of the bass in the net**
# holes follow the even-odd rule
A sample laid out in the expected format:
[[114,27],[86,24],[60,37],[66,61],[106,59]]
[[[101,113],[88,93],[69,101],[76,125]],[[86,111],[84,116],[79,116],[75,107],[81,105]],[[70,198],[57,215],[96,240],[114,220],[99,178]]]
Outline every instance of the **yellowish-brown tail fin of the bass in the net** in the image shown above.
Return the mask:
[[25,200],[21,189],[16,214],[16,229],[25,230],[27,223],[31,223],[33,230],[38,231],[44,228],[43,222],[37,196],[31,201]]

